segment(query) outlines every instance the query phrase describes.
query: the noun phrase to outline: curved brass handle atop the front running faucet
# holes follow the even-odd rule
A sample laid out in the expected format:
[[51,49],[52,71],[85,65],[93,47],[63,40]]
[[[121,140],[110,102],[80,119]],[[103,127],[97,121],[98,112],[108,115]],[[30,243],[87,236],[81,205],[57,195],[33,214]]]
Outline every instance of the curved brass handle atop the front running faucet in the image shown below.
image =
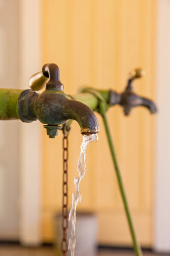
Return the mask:
[[30,77],[29,85],[34,91],[39,91],[44,86],[45,90],[63,91],[59,67],[54,63],[45,64],[42,67],[42,71]]

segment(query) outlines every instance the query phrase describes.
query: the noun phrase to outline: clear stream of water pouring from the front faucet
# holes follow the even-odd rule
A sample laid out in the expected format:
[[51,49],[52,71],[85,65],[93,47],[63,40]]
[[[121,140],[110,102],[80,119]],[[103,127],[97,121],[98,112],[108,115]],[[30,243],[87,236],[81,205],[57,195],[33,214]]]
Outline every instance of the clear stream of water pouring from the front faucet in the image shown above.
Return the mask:
[[69,214],[69,221],[72,225],[71,237],[69,240],[69,250],[71,251],[71,256],[75,255],[75,221],[76,221],[76,207],[81,201],[82,195],[80,194],[79,187],[80,181],[85,175],[86,164],[85,164],[85,152],[88,144],[93,141],[98,141],[97,133],[92,133],[89,135],[84,135],[81,143],[81,152],[77,164],[77,177],[74,178],[75,193],[72,194],[72,207]]

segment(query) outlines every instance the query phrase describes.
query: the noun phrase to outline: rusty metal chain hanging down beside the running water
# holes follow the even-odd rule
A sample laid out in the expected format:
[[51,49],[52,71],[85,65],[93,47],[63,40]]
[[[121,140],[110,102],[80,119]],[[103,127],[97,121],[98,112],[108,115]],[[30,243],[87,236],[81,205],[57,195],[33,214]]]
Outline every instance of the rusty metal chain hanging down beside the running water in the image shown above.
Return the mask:
[[63,183],[62,183],[62,241],[61,251],[63,256],[67,256],[68,242],[67,242],[67,228],[68,228],[68,174],[67,174],[67,160],[68,160],[68,134],[63,132],[62,139],[63,147]]

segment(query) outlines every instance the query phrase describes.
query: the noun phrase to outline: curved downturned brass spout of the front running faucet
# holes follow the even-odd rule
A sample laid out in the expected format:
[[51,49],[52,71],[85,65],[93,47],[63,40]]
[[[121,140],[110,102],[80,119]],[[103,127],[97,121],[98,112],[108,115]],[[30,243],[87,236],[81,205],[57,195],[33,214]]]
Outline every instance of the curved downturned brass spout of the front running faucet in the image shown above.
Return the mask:
[[82,102],[67,99],[63,106],[63,115],[66,119],[76,120],[83,135],[100,132],[94,112]]

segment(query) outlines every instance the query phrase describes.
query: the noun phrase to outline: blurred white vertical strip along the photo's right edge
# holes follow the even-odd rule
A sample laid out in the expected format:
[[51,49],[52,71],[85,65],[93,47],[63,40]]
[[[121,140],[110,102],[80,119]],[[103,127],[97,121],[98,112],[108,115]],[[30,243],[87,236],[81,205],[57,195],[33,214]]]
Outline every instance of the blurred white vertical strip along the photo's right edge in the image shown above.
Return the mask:
[[157,8],[157,132],[154,249],[170,253],[170,0]]

